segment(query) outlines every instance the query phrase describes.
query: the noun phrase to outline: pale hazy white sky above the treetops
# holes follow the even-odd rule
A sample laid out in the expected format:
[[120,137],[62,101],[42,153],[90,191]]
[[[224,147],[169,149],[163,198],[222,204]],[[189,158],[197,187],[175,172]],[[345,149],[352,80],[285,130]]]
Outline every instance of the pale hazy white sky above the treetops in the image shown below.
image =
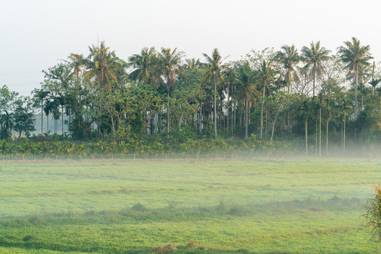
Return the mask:
[[127,60],[142,47],[177,47],[202,59],[215,47],[227,60],[251,49],[312,40],[336,52],[358,37],[381,61],[381,1],[337,0],[0,0],[0,86],[29,95],[42,70],[104,40]]

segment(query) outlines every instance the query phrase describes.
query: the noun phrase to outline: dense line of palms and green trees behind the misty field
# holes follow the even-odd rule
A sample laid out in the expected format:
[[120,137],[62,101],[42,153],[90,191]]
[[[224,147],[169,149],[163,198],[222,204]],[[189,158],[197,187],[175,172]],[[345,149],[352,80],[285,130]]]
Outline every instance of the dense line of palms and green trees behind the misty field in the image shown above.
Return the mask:
[[322,147],[328,154],[330,140],[345,152],[348,138],[380,138],[380,70],[370,46],[355,37],[335,52],[317,41],[300,51],[294,45],[253,50],[239,61],[218,49],[202,56],[187,59],[178,49],[145,47],[123,60],[104,42],[89,47],[87,56],[70,54],[43,71],[41,88],[30,97],[1,88],[0,139],[15,138],[13,131],[16,140],[37,131],[117,144],[164,142],[176,133],[201,139],[255,135],[270,144],[303,140],[307,154],[321,155]]

